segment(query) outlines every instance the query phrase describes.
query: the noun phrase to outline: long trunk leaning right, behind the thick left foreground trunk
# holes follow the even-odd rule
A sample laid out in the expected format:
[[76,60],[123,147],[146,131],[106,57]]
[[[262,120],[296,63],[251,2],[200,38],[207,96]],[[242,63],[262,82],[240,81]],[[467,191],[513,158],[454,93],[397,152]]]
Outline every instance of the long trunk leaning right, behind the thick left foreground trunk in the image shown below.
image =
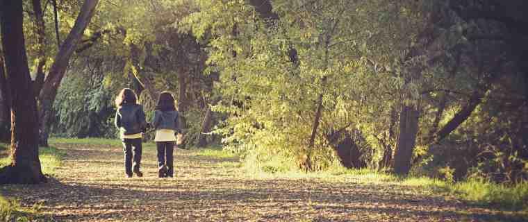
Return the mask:
[[40,145],[48,146],[49,129],[51,128],[51,120],[53,118],[52,108],[53,102],[57,95],[57,90],[60,85],[60,81],[63,80],[66,68],[68,66],[69,58],[75,51],[75,47],[83,33],[90,23],[94,13],[95,7],[99,0],[85,0],[81,12],[75,21],[72,31],[69,32],[64,43],[60,46],[55,62],[51,65],[48,77],[44,81],[44,86],[40,92]]

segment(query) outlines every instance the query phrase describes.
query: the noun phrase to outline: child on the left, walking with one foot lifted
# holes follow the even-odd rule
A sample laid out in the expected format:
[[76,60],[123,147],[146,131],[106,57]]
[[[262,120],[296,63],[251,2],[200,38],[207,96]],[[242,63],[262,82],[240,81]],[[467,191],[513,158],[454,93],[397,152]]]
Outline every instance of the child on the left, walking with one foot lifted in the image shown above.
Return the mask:
[[[124,171],[127,178],[132,173],[142,177],[141,153],[142,133],[147,129],[145,112],[142,105],[137,103],[138,98],[132,89],[124,88],[115,98],[117,112],[115,112],[115,126],[119,129],[119,137],[123,142]],[[132,164],[133,162],[133,164]]]

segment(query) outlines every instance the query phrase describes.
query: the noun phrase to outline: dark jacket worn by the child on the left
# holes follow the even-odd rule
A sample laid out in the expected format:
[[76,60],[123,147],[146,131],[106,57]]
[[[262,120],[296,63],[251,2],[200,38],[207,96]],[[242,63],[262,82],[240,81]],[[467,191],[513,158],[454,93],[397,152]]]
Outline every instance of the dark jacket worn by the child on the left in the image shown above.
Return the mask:
[[145,132],[147,121],[143,107],[138,104],[124,104],[115,112],[115,127],[122,135]]

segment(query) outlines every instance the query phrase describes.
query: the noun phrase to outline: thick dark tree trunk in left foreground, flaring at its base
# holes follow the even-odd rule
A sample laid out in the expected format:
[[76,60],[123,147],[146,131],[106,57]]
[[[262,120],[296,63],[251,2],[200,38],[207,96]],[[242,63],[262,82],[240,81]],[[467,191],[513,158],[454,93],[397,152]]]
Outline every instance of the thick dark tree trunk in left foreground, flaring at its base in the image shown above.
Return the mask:
[[38,158],[37,104],[24,44],[22,1],[1,1],[1,34],[11,86],[11,164],[0,169],[0,184],[45,182]]

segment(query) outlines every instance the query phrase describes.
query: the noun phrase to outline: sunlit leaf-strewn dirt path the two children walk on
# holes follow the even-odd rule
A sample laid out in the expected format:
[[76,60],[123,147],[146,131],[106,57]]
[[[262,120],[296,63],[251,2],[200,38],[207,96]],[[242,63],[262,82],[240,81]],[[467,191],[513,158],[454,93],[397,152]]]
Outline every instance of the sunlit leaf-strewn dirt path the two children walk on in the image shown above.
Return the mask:
[[67,152],[56,178],[7,196],[42,205],[55,221],[511,221],[458,200],[355,178],[251,178],[232,158],[176,150],[176,178],[157,178],[153,147],[143,178],[125,178],[122,148],[55,144]]

